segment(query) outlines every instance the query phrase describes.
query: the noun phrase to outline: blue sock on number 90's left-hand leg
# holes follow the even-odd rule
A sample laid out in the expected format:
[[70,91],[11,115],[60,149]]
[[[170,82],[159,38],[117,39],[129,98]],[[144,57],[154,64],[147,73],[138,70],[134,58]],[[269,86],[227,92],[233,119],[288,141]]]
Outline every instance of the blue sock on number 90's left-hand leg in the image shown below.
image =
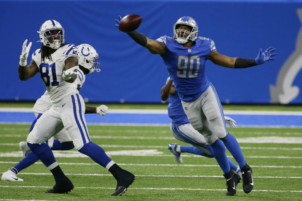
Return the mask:
[[231,166],[229,164],[228,158],[226,157],[226,148],[221,142],[218,140],[217,142],[211,144],[212,152],[217,160],[218,165],[221,167],[223,173],[228,173],[231,170]]

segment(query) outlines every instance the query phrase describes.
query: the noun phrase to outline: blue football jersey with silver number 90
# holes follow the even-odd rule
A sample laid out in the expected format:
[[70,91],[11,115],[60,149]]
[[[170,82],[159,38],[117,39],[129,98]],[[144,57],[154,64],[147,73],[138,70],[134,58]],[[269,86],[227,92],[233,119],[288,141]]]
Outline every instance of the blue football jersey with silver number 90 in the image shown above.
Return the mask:
[[166,35],[156,41],[166,46],[166,53],[162,58],[180,99],[197,99],[210,86],[205,75],[205,61],[210,52],[216,51],[214,41],[198,37],[191,48],[183,47],[174,38]]

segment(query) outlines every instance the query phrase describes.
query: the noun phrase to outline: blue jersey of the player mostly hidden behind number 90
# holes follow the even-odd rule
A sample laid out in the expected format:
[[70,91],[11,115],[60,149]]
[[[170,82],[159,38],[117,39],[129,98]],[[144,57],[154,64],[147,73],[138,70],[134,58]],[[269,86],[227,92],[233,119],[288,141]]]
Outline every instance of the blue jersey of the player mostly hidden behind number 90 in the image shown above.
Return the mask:
[[168,115],[172,119],[172,124],[179,126],[190,123],[187,115],[183,111],[182,101],[176,92],[169,97]]

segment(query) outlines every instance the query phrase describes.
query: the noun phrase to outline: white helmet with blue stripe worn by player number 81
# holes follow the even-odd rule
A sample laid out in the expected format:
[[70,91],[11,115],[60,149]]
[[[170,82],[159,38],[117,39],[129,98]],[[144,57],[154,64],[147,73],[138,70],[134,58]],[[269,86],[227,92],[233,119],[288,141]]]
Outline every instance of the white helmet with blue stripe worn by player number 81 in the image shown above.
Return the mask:
[[39,33],[43,45],[52,49],[59,49],[60,45],[64,43],[64,29],[56,20],[47,20],[40,28]]

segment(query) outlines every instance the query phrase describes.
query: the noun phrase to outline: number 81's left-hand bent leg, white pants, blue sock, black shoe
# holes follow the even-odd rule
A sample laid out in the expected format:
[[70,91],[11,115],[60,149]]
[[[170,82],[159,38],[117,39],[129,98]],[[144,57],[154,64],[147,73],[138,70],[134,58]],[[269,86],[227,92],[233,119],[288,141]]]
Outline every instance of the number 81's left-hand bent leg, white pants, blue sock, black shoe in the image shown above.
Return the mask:
[[57,118],[58,104],[46,111],[36,122],[36,126],[28,135],[26,141],[31,151],[51,171],[56,184],[46,193],[66,193],[73,189],[73,184],[66,177],[53,156],[48,144],[44,143],[63,128],[63,123]]

